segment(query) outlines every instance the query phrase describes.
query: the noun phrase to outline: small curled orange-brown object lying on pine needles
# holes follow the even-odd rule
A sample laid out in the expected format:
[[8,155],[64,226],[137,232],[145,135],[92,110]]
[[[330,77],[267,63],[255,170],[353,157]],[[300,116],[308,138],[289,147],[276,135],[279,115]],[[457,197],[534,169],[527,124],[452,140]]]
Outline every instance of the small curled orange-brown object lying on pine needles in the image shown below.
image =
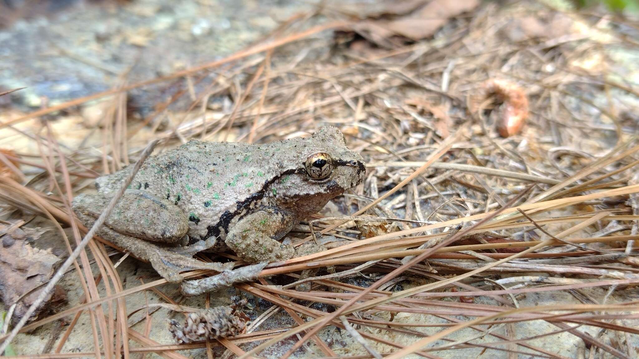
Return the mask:
[[484,83],[486,97],[495,95],[502,105],[497,131],[502,137],[520,132],[528,118],[528,98],[520,86],[507,80],[488,80]]

